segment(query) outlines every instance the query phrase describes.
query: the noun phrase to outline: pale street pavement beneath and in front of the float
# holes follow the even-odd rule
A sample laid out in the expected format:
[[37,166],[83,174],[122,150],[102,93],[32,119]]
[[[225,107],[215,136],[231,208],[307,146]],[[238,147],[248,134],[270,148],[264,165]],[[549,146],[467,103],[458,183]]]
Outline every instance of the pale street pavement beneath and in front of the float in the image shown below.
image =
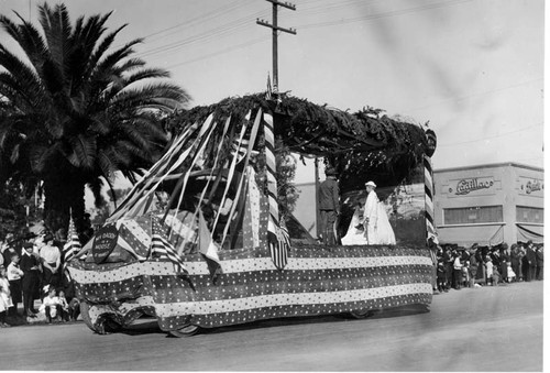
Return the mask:
[[542,282],[451,289],[367,319],[264,320],[168,338],[141,319],[99,336],[82,322],[0,329],[0,370],[542,371]]

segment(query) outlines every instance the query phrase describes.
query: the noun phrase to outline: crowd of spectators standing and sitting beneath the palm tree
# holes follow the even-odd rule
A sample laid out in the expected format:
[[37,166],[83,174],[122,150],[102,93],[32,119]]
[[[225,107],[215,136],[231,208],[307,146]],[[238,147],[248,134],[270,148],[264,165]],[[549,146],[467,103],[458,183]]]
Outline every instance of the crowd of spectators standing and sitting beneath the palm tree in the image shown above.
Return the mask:
[[[0,328],[44,320],[76,320],[79,301],[74,284],[63,273],[63,246],[66,233],[42,232],[31,239],[0,238]],[[38,309],[35,301],[41,301]],[[22,304],[20,314],[19,305]]]

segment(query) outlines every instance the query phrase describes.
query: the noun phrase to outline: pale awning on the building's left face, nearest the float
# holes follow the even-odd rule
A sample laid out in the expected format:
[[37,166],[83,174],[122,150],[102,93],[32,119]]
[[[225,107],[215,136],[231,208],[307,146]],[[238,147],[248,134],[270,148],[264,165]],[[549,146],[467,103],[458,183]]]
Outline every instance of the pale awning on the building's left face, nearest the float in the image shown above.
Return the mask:
[[474,243],[482,246],[504,242],[504,226],[438,227],[439,243],[455,243],[470,248]]

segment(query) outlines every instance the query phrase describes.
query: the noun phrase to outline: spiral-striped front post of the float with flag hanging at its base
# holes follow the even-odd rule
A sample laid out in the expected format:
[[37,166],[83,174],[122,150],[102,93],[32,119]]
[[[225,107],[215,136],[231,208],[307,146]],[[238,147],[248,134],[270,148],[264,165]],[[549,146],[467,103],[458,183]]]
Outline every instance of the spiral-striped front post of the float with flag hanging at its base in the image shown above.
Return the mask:
[[287,263],[289,240],[288,232],[280,229],[277,204],[277,179],[275,160],[275,134],[273,117],[264,113],[265,162],[267,167],[267,199],[270,204],[270,220],[267,222],[267,242],[273,263],[283,270]]

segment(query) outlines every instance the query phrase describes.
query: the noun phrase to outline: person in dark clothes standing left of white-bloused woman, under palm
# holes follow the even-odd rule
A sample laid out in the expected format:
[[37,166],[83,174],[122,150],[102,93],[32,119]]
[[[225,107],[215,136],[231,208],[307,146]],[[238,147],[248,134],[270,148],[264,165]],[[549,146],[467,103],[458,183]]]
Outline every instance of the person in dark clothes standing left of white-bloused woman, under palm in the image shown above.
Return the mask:
[[23,244],[23,255],[21,257],[21,271],[23,271],[23,316],[35,317],[34,299],[40,297],[40,259],[33,253],[33,244]]

